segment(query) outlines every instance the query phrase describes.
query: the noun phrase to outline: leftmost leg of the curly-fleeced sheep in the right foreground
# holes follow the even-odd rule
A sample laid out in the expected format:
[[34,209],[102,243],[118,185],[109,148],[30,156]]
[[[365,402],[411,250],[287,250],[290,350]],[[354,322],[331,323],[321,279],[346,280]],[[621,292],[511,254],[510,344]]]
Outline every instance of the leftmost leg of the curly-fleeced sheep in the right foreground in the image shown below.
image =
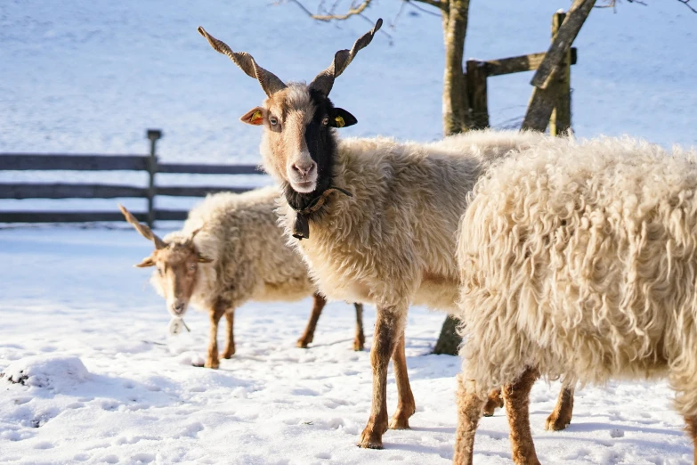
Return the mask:
[[482,418],[485,399],[479,396],[474,381],[466,381],[458,375],[458,430],[455,433],[453,465],[472,465],[474,435]]

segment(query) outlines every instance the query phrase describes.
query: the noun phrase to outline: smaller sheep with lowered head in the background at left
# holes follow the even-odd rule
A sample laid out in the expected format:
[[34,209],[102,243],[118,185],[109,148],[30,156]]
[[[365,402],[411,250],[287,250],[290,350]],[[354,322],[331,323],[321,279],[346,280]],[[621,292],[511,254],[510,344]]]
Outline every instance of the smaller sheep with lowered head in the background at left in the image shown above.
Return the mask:
[[[182,317],[192,304],[210,315],[210,341],[204,365],[208,368],[218,368],[220,364],[217,334],[223,314],[228,322],[223,358],[235,354],[234,312],[247,301],[293,301],[313,296],[312,315],[297,347],[307,347],[312,342],[326,300],[316,292],[302,257],[284,241],[273,212],[278,196],[275,188],[209,195],[190,211],[182,231],[170,232],[164,240],[119,206],[126,220],[155,244],[150,257],[136,266],[157,267],[150,281],[158,294],[166,298],[169,313]],[[363,307],[355,307],[353,348],[362,350]]]

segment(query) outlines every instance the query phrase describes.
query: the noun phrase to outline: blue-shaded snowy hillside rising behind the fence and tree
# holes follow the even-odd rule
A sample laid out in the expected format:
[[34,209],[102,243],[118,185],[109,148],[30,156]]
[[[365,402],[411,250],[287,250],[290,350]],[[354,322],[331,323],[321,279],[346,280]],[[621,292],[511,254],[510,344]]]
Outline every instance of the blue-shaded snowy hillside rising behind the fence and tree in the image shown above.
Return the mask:
[[[399,4],[374,3],[369,17],[389,24]],[[569,4],[472,2],[466,57],[546,51],[552,13]],[[675,1],[649,4],[597,9],[581,30],[572,71],[579,135],[697,143],[697,15]],[[384,28],[392,45],[379,35],[337,80],[334,101],[359,119],[344,135],[441,135],[441,20],[410,12]],[[238,118],[263,92],[210,49],[199,25],[285,80],[312,79],[369,29],[361,18],[311,21],[289,3],[4,0],[0,151],[141,153],[145,128],[160,127],[164,159],[258,162],[258,130]],[[523,117],[530,79],[490,79],[493,124]]]

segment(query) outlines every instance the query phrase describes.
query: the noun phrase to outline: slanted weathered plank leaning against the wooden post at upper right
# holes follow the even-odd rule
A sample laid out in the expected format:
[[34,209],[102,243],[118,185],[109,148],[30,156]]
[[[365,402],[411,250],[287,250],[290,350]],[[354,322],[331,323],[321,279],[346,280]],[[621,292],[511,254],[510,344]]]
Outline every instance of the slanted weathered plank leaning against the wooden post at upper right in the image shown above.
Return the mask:
[[573,40],[578,36],[579,30],[588,18],[596,0],[574,0],[571,8],[559,28],[555,40],[545,54],[545,58],[540,63],[535,76],[532,77],[531,85],[540,89],[546,89],[552,81],[555,71],[559,69],[564,56],[571,48]]

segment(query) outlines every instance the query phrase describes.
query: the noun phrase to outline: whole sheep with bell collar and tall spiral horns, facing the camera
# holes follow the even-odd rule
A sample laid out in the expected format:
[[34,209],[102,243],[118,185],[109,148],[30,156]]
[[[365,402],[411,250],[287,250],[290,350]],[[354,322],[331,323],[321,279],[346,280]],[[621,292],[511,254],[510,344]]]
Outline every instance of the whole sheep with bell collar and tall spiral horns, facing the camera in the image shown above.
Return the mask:
[[[242,116],[263,126],[263,167],[280,183],[281,223],[310,265],[320,291],[375,303],[370,353],[373,404],[361,447],[382,448],[388,428],[387,367],[392,357],[399,402],[389,428],[409,428],[416,405],[409,387],[404,326],[411,304],[456,310],[456,232],[467,193],[491,159],[529,147],[544,135],[482,133],[438,143],[344,139],[336,128],[357,120],[328,99],[335,77],[369,45],[382,20],[310,85],[285,84],[248,53],[199,33],[261,84],[268,98]],[[492,401],[491,411],[498,404]]]

